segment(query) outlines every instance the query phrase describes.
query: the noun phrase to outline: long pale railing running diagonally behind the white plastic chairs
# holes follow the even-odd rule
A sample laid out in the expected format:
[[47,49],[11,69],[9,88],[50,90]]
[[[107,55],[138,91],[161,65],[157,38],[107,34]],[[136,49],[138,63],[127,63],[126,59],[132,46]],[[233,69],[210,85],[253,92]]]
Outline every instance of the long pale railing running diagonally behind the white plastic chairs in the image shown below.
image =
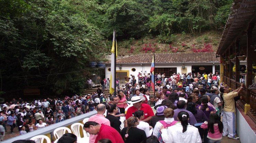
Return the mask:
[[32,131],[32,132],[28,132],[28,133],[23,134],[21,136],[17,136],[17,137],[8,139],[8,140],[4,140],[1,143],[12,143],[13,141],[16,141],[16,140],[29,140],[32,137],[37,136],[37,135],[46,135],[50,138],[50,133],[53,132],[56,128],[58,128],[58,127],[69,127],[70,128],[70,126],[72,124],[77,123],[77,122],[82,123],[84,118],[88,118],[90,116],[93,116],[96,113],[97,113],[97,111],[94,110],[92,112],[82,114],[82,115],[70,118],[68,120],[65,120],[65,121],[62,121],[62,122],[59,122],[59,123],[56,123],[56,124],[52,124],[52,125],[47,126],[45,128],[41,128],[41,129],[38,129],[38,130],[35,130],[35,131]]

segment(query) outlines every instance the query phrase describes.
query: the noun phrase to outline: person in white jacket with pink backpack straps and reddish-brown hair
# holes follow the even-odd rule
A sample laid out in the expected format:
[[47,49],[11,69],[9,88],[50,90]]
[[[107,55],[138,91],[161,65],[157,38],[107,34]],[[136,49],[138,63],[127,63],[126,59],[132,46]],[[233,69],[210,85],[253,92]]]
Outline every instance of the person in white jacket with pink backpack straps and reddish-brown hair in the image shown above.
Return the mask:
[[174,121],[173,114],[174,111],[172,108],[168,108],[167,106],[157,107],[158,115],[164,115],[164,120],[158,121],[153,130],[153,136],[157,137],[159,142],[163,143],[160,128],[163,126],[164,128],[168,128],[170,126],[175,125],[178,121]]

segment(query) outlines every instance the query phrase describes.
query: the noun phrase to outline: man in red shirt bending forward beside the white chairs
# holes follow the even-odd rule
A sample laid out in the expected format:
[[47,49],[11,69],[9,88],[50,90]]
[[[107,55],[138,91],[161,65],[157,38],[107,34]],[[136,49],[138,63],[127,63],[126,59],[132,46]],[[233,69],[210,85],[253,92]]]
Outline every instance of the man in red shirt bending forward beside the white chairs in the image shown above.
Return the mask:
[[96,122],[88,121],[84,124],[84,130],[89,132],[89,134],[97,134],[95,143],[98,143],[101,139],[109,139],[112,143],[124,143],[120,133],[111,126],[101,124]]

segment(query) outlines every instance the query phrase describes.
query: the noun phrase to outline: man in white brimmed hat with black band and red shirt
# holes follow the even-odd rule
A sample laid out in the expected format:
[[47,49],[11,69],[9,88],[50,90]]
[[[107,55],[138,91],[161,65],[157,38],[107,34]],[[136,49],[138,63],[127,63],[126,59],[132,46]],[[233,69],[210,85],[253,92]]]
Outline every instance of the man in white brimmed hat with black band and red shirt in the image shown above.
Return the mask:
[[142,99],[139,96],[133,96],[131,101],[128,101],[130,104],[133,104],[126,112],[126,120],[132,116],[132,114],[137,110],[144,111],[144,122],[148,122],[151,120],[152,116],[154,116],[154,112],[152,108],[148,104],[143,104]]

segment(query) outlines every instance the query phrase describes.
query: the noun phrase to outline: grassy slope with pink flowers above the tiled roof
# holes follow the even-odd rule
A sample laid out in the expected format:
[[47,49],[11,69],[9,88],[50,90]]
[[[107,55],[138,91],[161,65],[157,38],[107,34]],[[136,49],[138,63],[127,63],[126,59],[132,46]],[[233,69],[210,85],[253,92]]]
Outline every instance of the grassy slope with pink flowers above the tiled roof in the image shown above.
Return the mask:
[[[174,34],[176,38],[174,38],[172,43],[159,43],[156,37],[144,37],[138,40],[130,39],[118,43],[118,54],[152,53],[151,50],[142,51],[143,47],[146,47],[146,49],[154,48],[155,53],[193,52],[192,48],[202,49],[205,44],[211,45],[212,49],[216,51],[221,34],[218,31],[208,31],[200,34]],[[170,48],[170,44],[176,51]]]

